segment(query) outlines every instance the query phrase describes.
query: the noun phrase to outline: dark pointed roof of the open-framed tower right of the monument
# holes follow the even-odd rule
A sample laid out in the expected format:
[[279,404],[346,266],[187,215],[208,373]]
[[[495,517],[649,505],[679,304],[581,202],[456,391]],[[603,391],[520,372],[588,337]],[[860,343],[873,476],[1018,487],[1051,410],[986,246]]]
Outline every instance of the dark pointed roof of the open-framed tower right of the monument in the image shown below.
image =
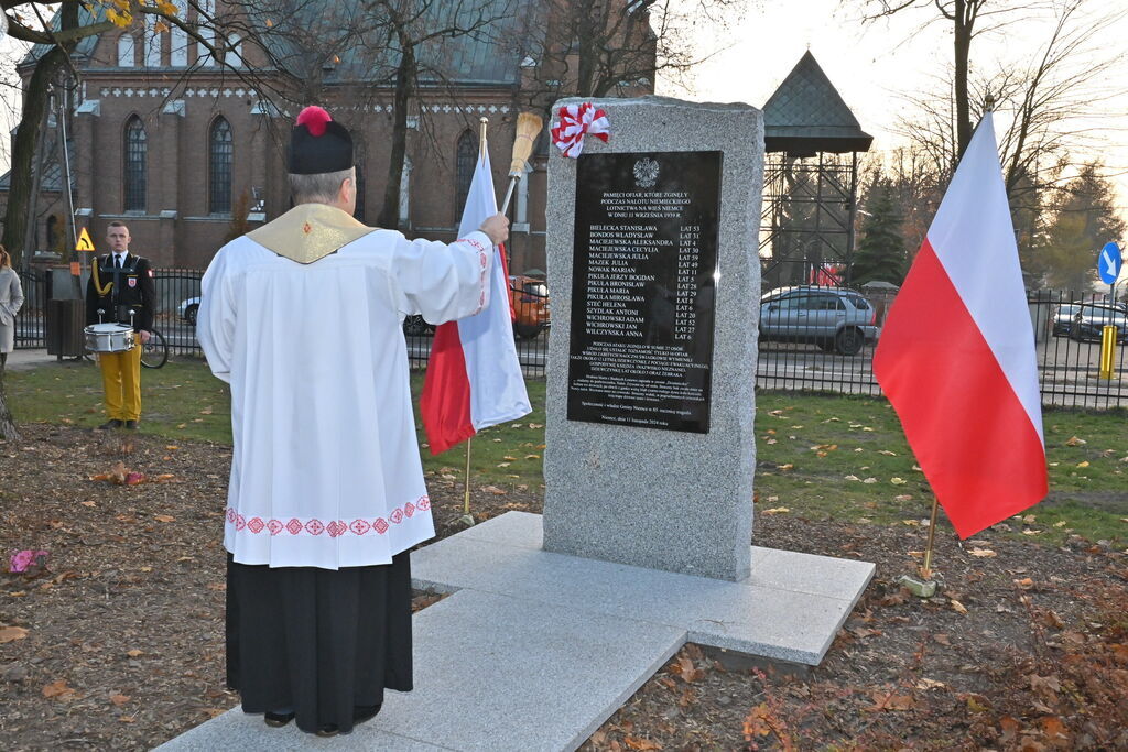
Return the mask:
[[819,151],[869,151],[873,136],[862,130],[810,51],[764,105],[764,147],[796,157]]

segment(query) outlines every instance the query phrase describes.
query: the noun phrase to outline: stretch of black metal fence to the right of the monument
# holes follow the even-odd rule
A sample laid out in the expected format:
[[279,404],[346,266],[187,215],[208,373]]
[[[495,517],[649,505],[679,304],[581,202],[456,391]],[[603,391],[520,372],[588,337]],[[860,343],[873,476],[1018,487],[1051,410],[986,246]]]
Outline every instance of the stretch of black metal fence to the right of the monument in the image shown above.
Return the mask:
[[[800,334],[791,340],[761,338],[757,386],[881,395],[881,387],[873,377],[873,351],[892,293],[865,294],[875,309],[878,329],[876,337],[867,338],[857,354],[837,352],[832,338],[828,339],[822,331]],[[1128,407],[1125,304],[1116,303],[1108,295],[1079,295],[1067,291],[1038,291],[1031,293],[1026,302],[1034,329],[1042,404],[1093,409]],[[1105,322],[1119,327],[1112,379],[1100,377],[1100,330]],[[920,321],[919,325],[943,327],[944,322]]]

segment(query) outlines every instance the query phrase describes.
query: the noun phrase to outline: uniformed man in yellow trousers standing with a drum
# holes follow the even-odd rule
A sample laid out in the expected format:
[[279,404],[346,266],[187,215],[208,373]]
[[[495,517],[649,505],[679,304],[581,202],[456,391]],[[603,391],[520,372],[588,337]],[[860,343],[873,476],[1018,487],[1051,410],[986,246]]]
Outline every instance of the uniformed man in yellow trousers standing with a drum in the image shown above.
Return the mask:
[[130,230],[111,222],[106,231],[111,253],[98,258],[86,286],[86,322],[132,325],[136,345],[122,353],[98,353],[109,418],[99,431],[133,431],[141,419],[141,346],[149,340],[157,294],[149,259],[130,253]]

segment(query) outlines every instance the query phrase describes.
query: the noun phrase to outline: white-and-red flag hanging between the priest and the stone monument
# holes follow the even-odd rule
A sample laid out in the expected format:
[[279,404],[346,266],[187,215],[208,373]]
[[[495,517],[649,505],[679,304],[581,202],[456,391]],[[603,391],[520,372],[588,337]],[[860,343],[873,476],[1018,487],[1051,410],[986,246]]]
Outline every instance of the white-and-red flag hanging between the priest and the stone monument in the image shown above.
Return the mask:
[[[490,153],[482,151],[462,209],[458,237],[497,213]],[[513,343],[505,254],[495,248],[490,304],[469,318],[441,324],[431,342],[420,414],[432,454],[447,451],[483,428],[532,412]]]

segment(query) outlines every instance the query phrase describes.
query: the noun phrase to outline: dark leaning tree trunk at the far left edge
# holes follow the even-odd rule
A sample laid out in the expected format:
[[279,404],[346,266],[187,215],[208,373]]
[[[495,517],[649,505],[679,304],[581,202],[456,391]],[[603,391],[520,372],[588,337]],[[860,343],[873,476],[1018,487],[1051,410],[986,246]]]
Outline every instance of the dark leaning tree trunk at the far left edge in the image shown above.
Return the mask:
[[32,201],[32,160],[35,159],[38,149],[43,147],[39,143],[42,130],[39,124],[43,123],[47,101],[51,98],[51,79],[65,59],[65,51],[52,47],[35,63],[35,71],[32,73],[27,95],[24,98],[24,112],[19,118],[19,127],[16,129],[16,141],[11,149],[11,172],[9,174],[11,184],[8,188],[8,206],[5,211],[3,239],[0,240],[11,254],[14,267],[19,266],[19,259],[25,251],[34,250],[34,248],[24,248],[27,242],[27,209]]

